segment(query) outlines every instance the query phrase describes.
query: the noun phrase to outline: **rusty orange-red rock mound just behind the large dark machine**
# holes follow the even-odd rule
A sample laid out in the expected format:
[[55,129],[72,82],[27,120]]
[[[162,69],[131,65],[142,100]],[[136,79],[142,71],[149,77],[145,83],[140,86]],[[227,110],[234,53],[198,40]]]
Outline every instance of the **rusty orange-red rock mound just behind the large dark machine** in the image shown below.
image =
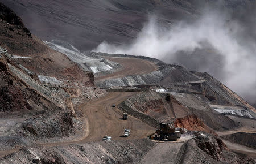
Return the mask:
[[174,122],[176,127],[186,128],[190,131],[204,131],[207,133],[213,132],[206,126],[196,115],[188,115],[183,118],[177,118]]

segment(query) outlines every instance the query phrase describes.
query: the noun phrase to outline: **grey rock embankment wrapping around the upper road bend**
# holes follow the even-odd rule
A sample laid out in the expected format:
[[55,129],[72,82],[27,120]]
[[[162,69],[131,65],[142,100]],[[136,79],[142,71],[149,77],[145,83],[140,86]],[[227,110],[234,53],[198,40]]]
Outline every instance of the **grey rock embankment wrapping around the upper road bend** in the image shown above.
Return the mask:
[[[155,63],[159,69],[141,75],[131,75],[127,77],[108,79],[96,81],[96,86],[100,88],[110,88],[116,86],[134,86],[134,85],[162,85],[168,87],[169,83],[179,83],[185,81],[199,81],[201,80],[196,75],[192,74],[184,67],[166,64],[155,58],[148,58],[143,56],[133,56],[133,55],[122,55],[122,54],[105,54],[105,53],[91,53],[93,56],[103,56],[103,57],[122,57],[122,58],[139,58]],[[167,79],[167,80],[165,80]]]

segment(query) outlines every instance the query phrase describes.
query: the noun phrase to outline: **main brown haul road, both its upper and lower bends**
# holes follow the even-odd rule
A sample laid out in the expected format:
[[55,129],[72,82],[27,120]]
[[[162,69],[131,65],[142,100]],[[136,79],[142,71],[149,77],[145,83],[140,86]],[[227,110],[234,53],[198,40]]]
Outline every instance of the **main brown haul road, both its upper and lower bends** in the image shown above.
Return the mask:
[[[156,64],[139,58],[115,58],[105,57],[110,61],[122,65],[122,70],[104,76],[96,77],[96,80],[114,79],[129,75],[147,74],[158,69]],[[110,92],[106,96],[96,98],[79,106],[85,116],[86,132],[83,137],[75,140],[61,141],[56,143],[40,143],[33,146],[59,146],[69,144],[80,144],[89,141],[101,141],[104,135],[112,136],[112,140],[142,139],[155,132],[155,128],[148,126],[133,116],[128,120],[122,120],[123,112],[118,107],[112,107],[126,100],[137,92]],[[131,129],[131,135],[122,137],[125,128]],[[0,157],[16,152],[20,148],[0,151]]]

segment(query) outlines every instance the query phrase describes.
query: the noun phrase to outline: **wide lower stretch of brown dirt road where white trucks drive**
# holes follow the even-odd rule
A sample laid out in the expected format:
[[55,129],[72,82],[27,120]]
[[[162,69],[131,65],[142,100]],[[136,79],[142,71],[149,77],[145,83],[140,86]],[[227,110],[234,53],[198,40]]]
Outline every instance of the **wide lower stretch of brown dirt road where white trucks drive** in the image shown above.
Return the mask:
[[[40,144],[43,146],[59,146],[69,144],[81,144],[90,141],[101,141],[104,135],[112,136],[112,140],[130,140],[146,138],[155,132],[155,128],[148,126],[141,120],[128,116],[128,120],[123,120],[123,113],[116,106],[127,97],[137,94],[137,92],[111,92],[104,97],[94,99],[79,106],[83,111],[86,120],[86,133],[76,140],[64,141],[60,143]],[[131,130],[129,137],[122,137],[125,128]]]

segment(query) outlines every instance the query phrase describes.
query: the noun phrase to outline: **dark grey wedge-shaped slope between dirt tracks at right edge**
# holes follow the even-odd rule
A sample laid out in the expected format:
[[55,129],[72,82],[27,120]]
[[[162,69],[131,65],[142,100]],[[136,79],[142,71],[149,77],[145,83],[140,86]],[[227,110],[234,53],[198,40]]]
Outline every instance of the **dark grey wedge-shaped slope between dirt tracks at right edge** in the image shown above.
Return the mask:
[[221,138],[237,144],[256,148],[256,133],[237,132],[231,135],[221,136]]

